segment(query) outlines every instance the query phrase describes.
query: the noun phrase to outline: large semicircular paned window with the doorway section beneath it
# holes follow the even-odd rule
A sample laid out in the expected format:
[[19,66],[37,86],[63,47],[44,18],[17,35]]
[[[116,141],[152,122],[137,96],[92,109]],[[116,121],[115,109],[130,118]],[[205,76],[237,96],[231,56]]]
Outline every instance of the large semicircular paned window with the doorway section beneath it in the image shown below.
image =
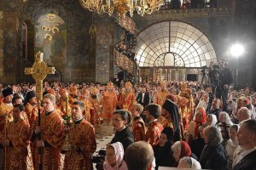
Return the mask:
[[202,31],[173,20],[143,30],[137,36],[135,51],[143,82],[186,81],[188,75],[200,81],[201,67],[217,60]]

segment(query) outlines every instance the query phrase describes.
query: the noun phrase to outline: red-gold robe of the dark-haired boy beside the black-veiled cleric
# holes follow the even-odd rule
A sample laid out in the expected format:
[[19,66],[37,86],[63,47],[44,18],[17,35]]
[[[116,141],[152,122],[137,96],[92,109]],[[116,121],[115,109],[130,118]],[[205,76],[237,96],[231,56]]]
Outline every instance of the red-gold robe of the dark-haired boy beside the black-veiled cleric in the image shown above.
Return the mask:
[[148,124],[148,131],[145,136],[145,141],[151,144],[154,147],[156,144],[159,143],[160,133],[164,127],[161,125],[160,122],[154,121],[149,122]]

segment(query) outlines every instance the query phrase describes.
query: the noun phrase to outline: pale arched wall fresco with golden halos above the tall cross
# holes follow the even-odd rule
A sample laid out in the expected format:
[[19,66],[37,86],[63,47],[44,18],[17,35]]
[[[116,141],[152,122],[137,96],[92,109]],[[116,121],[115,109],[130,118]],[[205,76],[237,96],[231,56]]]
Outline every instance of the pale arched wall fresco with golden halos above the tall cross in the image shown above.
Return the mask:
[[36,52],[44,53],[47,65],[64,69],[67,65],[67,26],[56,14],[44,14],[36,23]]

